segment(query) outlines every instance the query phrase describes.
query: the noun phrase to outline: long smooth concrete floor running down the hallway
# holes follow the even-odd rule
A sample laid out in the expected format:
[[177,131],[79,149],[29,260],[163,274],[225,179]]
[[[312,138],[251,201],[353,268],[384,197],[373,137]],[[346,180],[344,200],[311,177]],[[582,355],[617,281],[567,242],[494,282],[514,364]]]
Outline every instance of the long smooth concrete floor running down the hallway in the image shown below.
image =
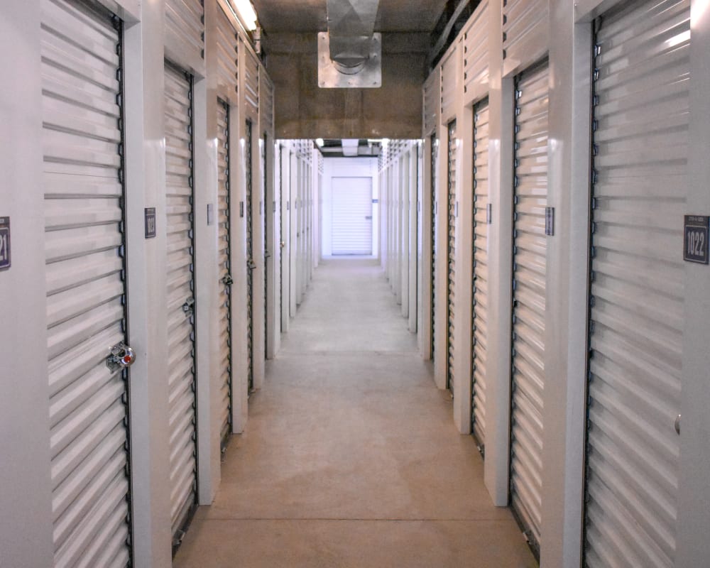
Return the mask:
[[536,565],[376,261],[324,261],[175,566]]

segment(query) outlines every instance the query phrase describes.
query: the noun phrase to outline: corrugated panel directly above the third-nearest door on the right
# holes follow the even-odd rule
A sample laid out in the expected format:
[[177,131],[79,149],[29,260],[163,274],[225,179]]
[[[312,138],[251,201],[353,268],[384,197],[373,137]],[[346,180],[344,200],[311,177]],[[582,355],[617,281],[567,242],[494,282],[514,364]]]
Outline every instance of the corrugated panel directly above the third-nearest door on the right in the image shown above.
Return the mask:
[[474,11],[464,30],[464,104],[488,92],[488,0]]

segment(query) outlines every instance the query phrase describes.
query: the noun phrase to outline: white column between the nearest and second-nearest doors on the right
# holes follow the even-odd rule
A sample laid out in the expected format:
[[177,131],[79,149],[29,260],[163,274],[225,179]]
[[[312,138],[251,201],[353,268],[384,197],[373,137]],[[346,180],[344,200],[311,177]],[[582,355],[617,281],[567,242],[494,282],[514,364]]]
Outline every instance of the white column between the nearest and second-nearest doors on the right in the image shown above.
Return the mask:
[[581,564],[586,428],[589,270],[591,23],[574,6],[550,3],[545,427],[542,433],[542,542],[546,568]]

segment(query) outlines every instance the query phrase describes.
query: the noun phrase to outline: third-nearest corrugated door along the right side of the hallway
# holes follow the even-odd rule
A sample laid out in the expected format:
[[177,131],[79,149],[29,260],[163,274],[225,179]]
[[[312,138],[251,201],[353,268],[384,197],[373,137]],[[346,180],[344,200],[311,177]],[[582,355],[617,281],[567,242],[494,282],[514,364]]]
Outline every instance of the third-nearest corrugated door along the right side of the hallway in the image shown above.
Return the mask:
[[474,107],[474,287],[471,346],[471,432],[481,454],[486,444],[488,329],[488,99]]

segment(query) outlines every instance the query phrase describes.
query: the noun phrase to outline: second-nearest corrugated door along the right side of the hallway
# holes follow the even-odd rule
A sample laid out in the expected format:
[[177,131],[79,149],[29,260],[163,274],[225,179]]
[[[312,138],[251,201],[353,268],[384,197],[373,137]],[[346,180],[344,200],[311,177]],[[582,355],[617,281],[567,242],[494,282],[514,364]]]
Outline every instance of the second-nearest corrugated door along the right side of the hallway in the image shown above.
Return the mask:
[[545,64],[515,81],[510,500],[536,552],[540,546],[545,378],[548,78]]

